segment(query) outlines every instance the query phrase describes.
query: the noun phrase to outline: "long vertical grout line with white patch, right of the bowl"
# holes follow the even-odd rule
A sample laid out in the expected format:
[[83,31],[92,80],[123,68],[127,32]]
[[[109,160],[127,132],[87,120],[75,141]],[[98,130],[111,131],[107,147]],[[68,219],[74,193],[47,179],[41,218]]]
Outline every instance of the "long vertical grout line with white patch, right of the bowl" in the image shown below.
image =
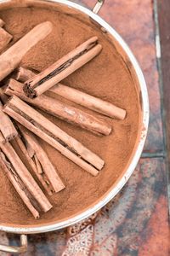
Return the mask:
[[[163,78],[162,78],[162,70],[161,70],[161,38],[160,38],[160,28],[159,28],[159,17],[158,17],[158,3],[157,0],[153,2],[153,15],[154,15],[154,25],[155,25],[155,37],[156,37],[156,62],[159,73],[159,90],[161,96],[161,121],[162,124],[165,124],[166,120],[166,110],[164,108],[163,99]],[[163,131],[163,144],[164,144],[164,157],[166,161],[166,173],[167,173],[167,197],[168,197],[168,208],[170,213],[170,174],[169,172],[169,163],[167,160],[167,129],[165,125],[162,125]]]

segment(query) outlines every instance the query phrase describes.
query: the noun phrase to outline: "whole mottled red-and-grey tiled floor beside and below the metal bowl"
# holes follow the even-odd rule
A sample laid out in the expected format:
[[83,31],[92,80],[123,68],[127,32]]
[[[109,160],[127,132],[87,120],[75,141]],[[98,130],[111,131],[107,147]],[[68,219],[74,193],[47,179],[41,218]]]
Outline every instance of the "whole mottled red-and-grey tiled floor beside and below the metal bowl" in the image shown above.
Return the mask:
[[[91,0],[77,2],[92,5]],[[92,218],[67,230],[29,236],[26,256],[168,256],[167,175],[153,1],[107,0],[100,15],[122,34],[144,70],[151,112],[144,149],[147,158],[140,160],[122,192]],[[19,236],[1,233],[0,241],[17,245]]]

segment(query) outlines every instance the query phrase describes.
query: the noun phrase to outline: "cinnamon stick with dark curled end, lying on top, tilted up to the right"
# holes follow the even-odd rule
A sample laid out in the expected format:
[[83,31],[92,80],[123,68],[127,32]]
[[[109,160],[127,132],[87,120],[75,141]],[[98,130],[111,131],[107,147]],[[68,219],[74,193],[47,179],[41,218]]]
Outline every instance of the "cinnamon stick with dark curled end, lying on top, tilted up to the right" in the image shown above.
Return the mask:
[[26,96],[34,98],[65,79],[78,68],[82,67],[88,61],[91,61],[96,55],[99,55],[102,46],[98,44],[98,38],[90,38],[85,43],[73,49],[52,66],[48,67],[42,73],[37,74],[32,79],[27,80],[24,86]]

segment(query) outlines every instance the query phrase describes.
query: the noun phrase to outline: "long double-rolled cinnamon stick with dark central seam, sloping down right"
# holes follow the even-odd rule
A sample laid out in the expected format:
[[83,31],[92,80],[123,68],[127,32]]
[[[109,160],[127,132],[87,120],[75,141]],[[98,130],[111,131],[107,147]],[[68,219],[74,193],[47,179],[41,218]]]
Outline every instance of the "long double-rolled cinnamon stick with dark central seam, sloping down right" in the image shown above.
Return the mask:
[[85,148],[82,143],[69,136],[65,131],[59,129],[57,125],[54,125],[41,113],[28,106],[26,102],[22,102],[18,97],[10,98],[3,111],[87,172],[97,175],[98,170],[103,168],[104,160]]

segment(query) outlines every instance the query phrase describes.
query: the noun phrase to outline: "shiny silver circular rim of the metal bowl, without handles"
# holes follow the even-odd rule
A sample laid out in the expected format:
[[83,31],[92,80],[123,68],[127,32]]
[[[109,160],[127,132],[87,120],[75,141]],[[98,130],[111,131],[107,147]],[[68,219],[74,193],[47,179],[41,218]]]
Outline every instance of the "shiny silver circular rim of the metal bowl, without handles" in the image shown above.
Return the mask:
[[[11,0],[2,0],[0,1],[0,4],[9,3],[9,2],[11,2]],[[39,0],[37,2],[42,3],[42,1],[39,1]],[[71,9],[77,9],[83,14],[88,15],[93,20],[95,20],[100,26],[103,26],[106,29],[106,31],[109,32],[111,36],[117,41],[117,43],[121,45],[123,51],[126,53],[129,60],[133,64],[133,69],[139,80],[140,90],[141,90],[141,103],[143,106],[143,111],[142,111],[143,112],[143,118],[142,118],[143,129],[141,130],[141,134],[139,135],[139,143],[136,146],[135,153],[133,153],[133,157],[130,160],[130,163],[128,163],[126,173],[120,179],[118,179],[118,182],[113,184],[113,188],[110,189],[109,193],[108,192],[105,193],[104,198],[101,201],[99,201],[97,204],[94,204],[93,207],[88,207],[88,209],[86,209],[82,213],[77,213],[75,214],[75,216],[71,218],[66,218],[64,221],[54,222],[53,224],[34,224],[32,225],[32,227],[31,226],[26,227],[26,225],[23,225],[23,226],[20,225],[20,227],[18,227],[17,225],[13,225],[13,226],[5,225],[5,224],[0,225],[0,230],[10,232],[10,233],[15,233],[15,234],[37,234],[37,233],[54,231],[54,230],[60,230],[72,224],[76,224],[77,222],[82,221],[84,218],[88,218],[89,216],[94,214],[94,212],[98,212],[99,209],[104,207],[109,201],[111,201],[111,199],[113,199],[113,197],[122,189],[125,183],[127,183],[128,178],[131,177],[131,175],[133,174],[133,171],[135,170],[135,167],[138,165],[140,156],[142,154],[144,143],[147,137],[148,126],[149,126],[150,108],[149,108],[148,91],[147,91],[146,83],[144,80],[144,74],[142,73],[142,70],[139,67],[139,63],[134,57],[131,49],[129,49],[129,47],[127,46],[125,41],[122,39],[122,37],[105,20],[99,17],[99,15],[95,15],[92,10],[86,7],[83,7],[78,3],[73,3],[67,0],[44,0],[44,2],[60,3],[63,5],[66,5]]]

